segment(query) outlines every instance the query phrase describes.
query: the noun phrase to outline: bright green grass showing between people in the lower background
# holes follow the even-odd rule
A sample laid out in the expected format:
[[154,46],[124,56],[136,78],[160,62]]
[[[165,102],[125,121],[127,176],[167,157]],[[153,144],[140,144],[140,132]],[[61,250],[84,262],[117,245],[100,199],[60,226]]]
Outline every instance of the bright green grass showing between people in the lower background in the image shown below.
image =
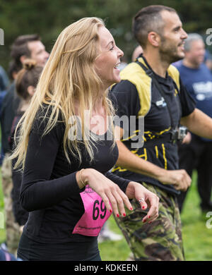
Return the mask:
[[[212,260],[212,228],[206,227],[206,216],[199,208],[199,195],[196,189],[196,173],[193,174],[192,187],[189,190],[182,212],[182,237],[187,261]],[[4,212],[3,195],[0,181],[0,212]],[[208,218],[209,219],[209,218]],[[110,229],[121,234],[113,217],[109,219]],[[212,222],[211,222],[212,225]],[[5,240],[5,230],[0,228],[0,243]],[[100,255],[103,261],[124,261],[130,250],[126,240],[100,243]]]

